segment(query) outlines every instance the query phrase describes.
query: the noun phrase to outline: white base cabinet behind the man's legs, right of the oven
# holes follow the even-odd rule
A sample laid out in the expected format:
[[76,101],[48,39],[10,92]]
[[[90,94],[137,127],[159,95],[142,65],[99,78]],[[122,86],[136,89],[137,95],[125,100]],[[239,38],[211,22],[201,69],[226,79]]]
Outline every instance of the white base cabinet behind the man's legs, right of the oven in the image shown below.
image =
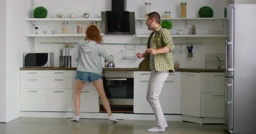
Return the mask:
[[[134,113],[153,113],[147,102],[150,72],[134,72]],[[165,81],[159,101],[165,114],[181,114],[181,73],[170,73]]]

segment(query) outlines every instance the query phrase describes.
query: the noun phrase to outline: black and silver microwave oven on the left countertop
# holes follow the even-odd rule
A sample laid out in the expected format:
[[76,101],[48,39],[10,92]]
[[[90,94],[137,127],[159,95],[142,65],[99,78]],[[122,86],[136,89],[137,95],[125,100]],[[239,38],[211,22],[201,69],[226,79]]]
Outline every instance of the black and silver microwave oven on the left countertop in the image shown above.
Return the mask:
[[24,53],[23,67],[53,67],[54,53]]

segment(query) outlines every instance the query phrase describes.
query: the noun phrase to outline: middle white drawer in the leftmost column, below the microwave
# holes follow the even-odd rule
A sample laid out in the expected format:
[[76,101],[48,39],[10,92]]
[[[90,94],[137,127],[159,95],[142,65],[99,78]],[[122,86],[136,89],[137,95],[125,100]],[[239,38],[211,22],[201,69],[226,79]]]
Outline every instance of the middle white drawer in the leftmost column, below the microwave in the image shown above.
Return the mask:
[[21,77],[21,88],[38,88],[43,89],[46,87],[47,79],[44,77]]

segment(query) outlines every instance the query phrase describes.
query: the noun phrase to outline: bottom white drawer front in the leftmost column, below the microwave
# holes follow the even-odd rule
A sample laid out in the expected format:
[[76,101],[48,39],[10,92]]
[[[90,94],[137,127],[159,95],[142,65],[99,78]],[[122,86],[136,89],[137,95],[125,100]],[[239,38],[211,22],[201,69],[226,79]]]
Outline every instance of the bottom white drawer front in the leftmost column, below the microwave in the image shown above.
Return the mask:
[[45,89],[21,89],[21,111],[46,111]]

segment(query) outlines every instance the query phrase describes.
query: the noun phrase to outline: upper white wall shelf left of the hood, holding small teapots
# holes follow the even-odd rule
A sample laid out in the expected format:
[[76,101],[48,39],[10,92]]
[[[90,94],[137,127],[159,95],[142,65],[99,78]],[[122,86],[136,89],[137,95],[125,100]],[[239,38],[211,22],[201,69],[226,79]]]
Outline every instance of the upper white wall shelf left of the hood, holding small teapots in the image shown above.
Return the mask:
[[25,18],[25,21],[101,21],[101,18]]

